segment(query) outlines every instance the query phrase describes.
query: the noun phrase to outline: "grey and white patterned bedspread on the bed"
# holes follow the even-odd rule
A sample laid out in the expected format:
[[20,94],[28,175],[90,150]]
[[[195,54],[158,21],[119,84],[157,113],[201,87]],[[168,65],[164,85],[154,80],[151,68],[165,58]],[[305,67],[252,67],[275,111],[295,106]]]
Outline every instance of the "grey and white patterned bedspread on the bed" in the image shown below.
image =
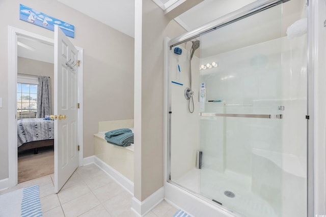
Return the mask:
[[43,118],[24,118],[17,120],[17,145],[21,146],[25,142],[54,139],[53,120]]

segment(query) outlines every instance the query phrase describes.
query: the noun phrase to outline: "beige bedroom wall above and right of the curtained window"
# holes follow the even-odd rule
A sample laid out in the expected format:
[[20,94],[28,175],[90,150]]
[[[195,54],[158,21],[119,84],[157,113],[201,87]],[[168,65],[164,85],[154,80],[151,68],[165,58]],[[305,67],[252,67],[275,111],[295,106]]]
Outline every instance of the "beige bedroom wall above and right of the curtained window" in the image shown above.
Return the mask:
[[51,112],[53,112],[53,72],[54,66],[51,63],[38,61],[29,58],[18,57],[17,58],[17,72],[21,74],[48,76],[50,81],[50,100],[51,100]]

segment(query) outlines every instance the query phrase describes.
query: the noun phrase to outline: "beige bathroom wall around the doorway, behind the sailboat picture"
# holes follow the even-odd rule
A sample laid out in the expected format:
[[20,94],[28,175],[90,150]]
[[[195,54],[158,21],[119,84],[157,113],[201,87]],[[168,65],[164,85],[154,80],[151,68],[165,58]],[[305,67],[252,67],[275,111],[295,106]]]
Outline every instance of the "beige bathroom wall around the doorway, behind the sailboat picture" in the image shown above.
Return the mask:
[[19,4],[75,26],[69,40],[84,48],[84,158],[94,154],[98,121],[133,118],[133,38],[57,1],[1,0],[0,180],[8,178],[8,25],[53,38],[52,31],[19,20]]

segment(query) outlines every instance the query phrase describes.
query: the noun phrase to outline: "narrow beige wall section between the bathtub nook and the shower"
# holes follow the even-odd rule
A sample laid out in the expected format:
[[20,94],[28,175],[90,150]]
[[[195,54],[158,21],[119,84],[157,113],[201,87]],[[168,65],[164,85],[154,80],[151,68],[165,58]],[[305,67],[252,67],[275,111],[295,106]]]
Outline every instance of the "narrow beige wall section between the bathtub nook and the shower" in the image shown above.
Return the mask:
[[135,83],[141,85],[140,95],[135,95],[135,101],[141,100],[141,110],[134,115],[135,128],[138,123],[141,126],[141,135],[135,131],[136,140],[141,136],[141,145],[135,144],[134,152],[134,196],[140,201],[163,186],[164,39],[185,33],[153,1],[143,0],[142,6],[142,68],[141,72],[135,71],[142,77]]

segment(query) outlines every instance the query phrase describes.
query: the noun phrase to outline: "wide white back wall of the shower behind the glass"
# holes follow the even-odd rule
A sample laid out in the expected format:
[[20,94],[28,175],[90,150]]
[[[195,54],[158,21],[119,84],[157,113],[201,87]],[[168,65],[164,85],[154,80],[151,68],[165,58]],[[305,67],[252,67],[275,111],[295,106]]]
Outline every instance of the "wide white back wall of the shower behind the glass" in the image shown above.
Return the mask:
[[283,114],[283,119],[202,118],[203,162],[214,163],[204,164],[201,179],[212,171],[240,178],[282,216],[306,211],[297,206],[306,202],[306,40],[306,35],[283,37],[201,59],[219,62],[200,75],[207,99],[223,101],[206,103],[205,112]]

